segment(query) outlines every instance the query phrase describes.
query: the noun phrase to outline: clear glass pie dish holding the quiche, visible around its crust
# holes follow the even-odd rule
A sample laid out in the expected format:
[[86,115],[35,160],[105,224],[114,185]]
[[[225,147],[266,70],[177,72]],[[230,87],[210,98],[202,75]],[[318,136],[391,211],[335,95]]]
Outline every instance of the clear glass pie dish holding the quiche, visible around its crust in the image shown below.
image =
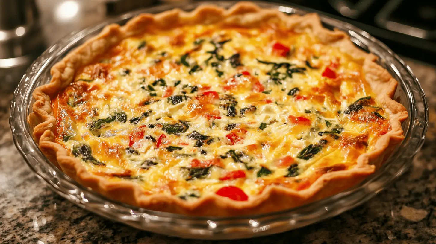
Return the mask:
[[[116,202],[78,184],[54,166],[38,149],[32,138],[31,127],[27,123],[27,116],[33,104],[31,94],[37,86],[50,81],[50,68],[53,64],[60,61],[73,48],[98,34],[110,23],[125,24],[137,14],[155,14],[174,7],[190,11],[204,3],[206,2],[183,6],[167,5],[135,11],[73,33],[51,46],[28,69],[14,93],[10,126],[14,142],[28,165],[55,192],[96,214],[142,230],[184,238],[236,239],[292,230],[341,214],[386,188],[411,165],[413,156],[422,146],[428,123],[426,100],[418,80],[397,55],[375,38],[350,24],[321,16],[325,27],[344,31],[350,35],[351,40],[358,47],[379,57],[378,63],[399,82],[394,99],[402,103],[409,112],[409,118],[402,124],[405,139],[397,146],[381,169],[364,182],[332,197],[289,210],[242,217],[191,217],[146,210]],[[207,3],[221,7],[230,7],[235,4],[235,2]],[[263,8],[274,8],[288,14],[307,13],[290,6],[262,2],[257,2],[257,4]]]

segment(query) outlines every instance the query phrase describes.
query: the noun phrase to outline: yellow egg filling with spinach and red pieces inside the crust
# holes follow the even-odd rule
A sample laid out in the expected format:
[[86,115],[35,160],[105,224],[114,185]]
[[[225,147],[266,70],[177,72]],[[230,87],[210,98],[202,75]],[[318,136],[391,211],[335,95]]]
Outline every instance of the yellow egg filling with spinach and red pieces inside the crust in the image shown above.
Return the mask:
[[129,37],[52,100],[56,142],[144,194],[248,200],[352,169],[390,131],[354,60],[278,21]]

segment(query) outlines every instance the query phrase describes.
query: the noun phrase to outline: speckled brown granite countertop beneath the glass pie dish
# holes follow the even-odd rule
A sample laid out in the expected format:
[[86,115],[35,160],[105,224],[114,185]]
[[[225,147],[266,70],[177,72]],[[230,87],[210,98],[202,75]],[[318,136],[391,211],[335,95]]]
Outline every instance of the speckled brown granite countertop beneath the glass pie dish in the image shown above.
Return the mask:
[[[90,22],[98,21],[101,16],[95,14],[101,12],[94,10],[89,10],[94,13]],[[44,19],[48,11],[42,12]],[[49,22],[50,18],[45,21]],[[82,27],[83,24],[62,26],[62,31],[68,33]],[[54,31],[53,28],[49,30]],[[62,34],[54,36],[59,38]],[[421,82],[430,115],[426,142],[407,173],[367,203],[329,220],[282,234],[217,243],[436,244],[436,86],[433,85],[436,67],[413,60],[406,63]],[[12,93],[0,88],[0,243],[212,243],[136,230],[83,210],[52,192],[14,146],[9,128],[11,99]]]

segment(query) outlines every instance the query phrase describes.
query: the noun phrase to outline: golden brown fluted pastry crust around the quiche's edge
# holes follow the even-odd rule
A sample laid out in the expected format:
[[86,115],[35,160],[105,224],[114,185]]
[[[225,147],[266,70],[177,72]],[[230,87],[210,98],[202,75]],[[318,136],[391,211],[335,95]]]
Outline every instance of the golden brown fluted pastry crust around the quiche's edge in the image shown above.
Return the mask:
[[[354,59],[363,61],[365,78],[376,95],[376,102],[388,113],[392,129],[378,139],[374,150],[358,157],[357,166],[354,168],[325,173],[305,190],[296,191],[273,185],[266,187],[261,194],[251,197],[248,201],[234,201],[211,195],[202,197],[198,201],[188,202],[179,197],[164,194],[147,196],[139,186],[133,183],[113,183],[104,177],[95,176],[86,171],[79,159],[70,156],[65,148],[54,142],[56,121],[51,109],[51,98],[54,98],[58,91],[72,82],[77,68],[89,64],[124,38],[140,34],[150,25],[165,29],[186,24],[211,24],[222,21],[225,24],[251,27],[273,18],[284,21],[290,30],[313,32],[322,43],[337,46]],[[28,122],[34,128],[34,139],[51,162],[78,183],[109,198],[151,210],[178,214],[203,216],[261,214],[301,206],[360,183],[380,167],[395,145],[403,139],[401,122],[407,118],[407,111],[401,104],[391,99],[397,82],[375,61],[374,55],[355,47],[347,34],[322,27],[317,14],[288,16],[277,10],[261,9],[249,2],[237,3],[228,10],[208,5],[198,7],[189,13],[174,9],[156,15],[141,14],[123,27],[117,24],[105,27],[98,36],[86,41],[85,44],[70,52],[61,62],[55,64],[51,69],[51,82],[36,88],[33,93],[36,102],[34,102],[33,113],[29,115]]]

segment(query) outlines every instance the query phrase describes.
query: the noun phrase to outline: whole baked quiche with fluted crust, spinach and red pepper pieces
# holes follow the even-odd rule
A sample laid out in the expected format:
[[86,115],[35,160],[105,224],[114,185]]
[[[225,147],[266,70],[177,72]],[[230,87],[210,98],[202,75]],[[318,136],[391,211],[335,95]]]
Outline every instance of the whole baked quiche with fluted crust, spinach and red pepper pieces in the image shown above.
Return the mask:
[[376,61],[316,14],[140,14],[55,64],[28,120],[51,162],[114,200],[267,213],[355,186],[401,142],[407,111]]

